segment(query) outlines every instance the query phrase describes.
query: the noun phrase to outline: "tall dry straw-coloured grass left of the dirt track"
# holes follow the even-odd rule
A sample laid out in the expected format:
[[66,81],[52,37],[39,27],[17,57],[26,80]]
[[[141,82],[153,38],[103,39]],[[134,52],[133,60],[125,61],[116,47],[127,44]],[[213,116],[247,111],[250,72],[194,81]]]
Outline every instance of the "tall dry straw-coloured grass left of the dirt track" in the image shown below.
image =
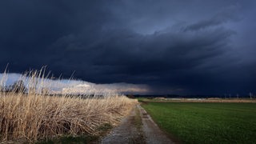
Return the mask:
[[86,98],[38,93],[40,71],[30,73],[29,91],[0,93],[0,142],[35,142],[61,134],[95,134],[104,123],[115,124],[137,101],[110,93]]

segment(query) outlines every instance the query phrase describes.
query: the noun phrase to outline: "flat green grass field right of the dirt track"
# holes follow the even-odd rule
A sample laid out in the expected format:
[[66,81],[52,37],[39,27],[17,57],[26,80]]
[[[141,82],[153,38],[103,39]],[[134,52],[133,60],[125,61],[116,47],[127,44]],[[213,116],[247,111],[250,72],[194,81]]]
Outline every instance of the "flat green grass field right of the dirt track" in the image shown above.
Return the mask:
[[256,143],[255,103],[147,102],[142,107],[183,143]]

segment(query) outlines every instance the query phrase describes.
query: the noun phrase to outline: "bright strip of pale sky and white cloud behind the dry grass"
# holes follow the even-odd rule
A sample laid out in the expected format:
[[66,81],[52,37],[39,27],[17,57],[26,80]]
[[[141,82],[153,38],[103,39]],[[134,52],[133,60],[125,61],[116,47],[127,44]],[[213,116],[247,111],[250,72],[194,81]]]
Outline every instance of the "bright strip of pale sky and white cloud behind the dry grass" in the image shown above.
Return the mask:
[[[0,74],[0,79],[4,79],[4,74]],[[5,78],[4,85],[11,86],[14,82],[22,80],[25,82],[28,77],[22,77],[22,74],[10,73]],[[110,83],[110,84],[96,84],[92,82],[86,82],[75,79],[50,79],[43,80],[43,88],[50,90],[54,94],[104,94],[106,92],[117,92],[120,94],[148,94],[150,88],[142,84],[130,84],[130,83]],[[40,91],[40,90],[38,90]]]

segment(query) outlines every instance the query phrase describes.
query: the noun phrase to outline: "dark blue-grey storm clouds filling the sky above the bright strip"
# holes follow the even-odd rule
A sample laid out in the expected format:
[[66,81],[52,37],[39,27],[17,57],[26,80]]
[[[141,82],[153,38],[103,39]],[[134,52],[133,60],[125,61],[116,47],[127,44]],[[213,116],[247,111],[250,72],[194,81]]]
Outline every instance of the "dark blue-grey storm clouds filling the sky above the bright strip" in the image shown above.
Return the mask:
[[[252,0],[2,0],[0,68],[154,94],[256,92]],[[138,86],[140,86],[138,85]]]

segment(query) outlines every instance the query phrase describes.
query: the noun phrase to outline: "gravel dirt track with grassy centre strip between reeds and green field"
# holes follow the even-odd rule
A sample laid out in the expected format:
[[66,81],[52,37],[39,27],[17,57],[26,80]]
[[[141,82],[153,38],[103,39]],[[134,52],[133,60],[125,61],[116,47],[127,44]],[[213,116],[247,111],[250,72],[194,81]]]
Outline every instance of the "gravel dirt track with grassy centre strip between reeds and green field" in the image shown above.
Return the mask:
[[138,105],[131,110],[119,126],[102,139],[101,143],[171,144],[174,142],[159,129],[146,110]]

